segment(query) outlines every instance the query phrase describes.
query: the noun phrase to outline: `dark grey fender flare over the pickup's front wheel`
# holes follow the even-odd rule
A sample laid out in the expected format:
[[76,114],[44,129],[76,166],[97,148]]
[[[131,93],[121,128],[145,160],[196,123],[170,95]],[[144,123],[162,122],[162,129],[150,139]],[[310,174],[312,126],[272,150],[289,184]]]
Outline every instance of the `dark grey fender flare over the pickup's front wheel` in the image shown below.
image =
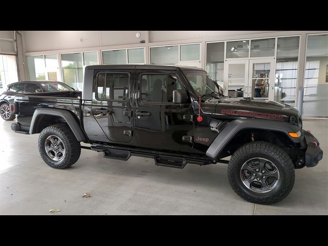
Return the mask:
[[206,152],[206,155],[211,158],[216,158],[229,142],[240,131],[244,129],[261,129],[276,132],[282,132],[289,137],[294,143],[300,143],[303,136],[299,138],[292,138],[288,135],[289,132],[298,132],[299,128],[290,124],[287,121],[272,121],[267,119],[235,119],[223,128],[223,130],[216,136]]

